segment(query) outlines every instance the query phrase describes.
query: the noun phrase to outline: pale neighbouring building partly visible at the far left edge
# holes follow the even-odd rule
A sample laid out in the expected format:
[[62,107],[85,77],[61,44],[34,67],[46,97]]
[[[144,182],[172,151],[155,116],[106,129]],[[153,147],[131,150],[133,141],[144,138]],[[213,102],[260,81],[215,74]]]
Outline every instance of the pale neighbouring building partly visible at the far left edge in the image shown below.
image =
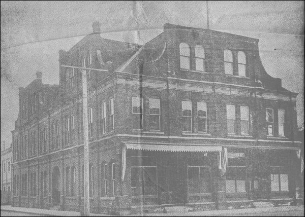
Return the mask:
[[11,191],[12,145],[1,151],[1,191]]

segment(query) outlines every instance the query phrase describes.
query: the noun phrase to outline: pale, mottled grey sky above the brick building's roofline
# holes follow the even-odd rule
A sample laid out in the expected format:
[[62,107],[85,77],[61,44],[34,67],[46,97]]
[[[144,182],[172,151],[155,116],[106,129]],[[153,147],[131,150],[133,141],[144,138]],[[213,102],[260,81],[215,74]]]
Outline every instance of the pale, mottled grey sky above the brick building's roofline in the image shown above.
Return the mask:
[[[18,117],[18,87],[42,71],[58,84],[58,51],[69,50],[100,21],[101,37],[143,44],[172,23],[207,28],[206,1],[1,1],[1,141],[8,148]],[[304,4],[302,1],[208,1],[210,29],[259,39],[269,75],[299,93],[304,122]],[[133,13],[137,11],[138,13]],[[138,23],[138,26],[135,25]]]

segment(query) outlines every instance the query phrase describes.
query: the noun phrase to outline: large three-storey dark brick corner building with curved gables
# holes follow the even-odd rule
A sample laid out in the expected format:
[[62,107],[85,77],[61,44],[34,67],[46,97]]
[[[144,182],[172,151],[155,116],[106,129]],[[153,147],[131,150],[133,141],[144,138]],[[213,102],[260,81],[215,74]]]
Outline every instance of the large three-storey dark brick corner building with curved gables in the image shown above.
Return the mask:
[[[19,89],[13,206],[83,209],[81,73],[87,70],[90,211],[246,207],[301,186],[296,93],[258,41],[165,24],[143,46],[100,37],[59,51],[59,86]],[[95,69],[106,69],[99,71]]]

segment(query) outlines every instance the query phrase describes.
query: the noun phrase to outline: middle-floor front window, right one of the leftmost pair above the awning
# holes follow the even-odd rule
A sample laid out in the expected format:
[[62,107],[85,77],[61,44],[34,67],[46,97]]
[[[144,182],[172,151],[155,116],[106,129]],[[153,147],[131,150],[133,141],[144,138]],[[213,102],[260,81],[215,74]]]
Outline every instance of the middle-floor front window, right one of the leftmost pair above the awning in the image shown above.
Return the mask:
[[160,130],[160,99],[149,98],[149,129]]

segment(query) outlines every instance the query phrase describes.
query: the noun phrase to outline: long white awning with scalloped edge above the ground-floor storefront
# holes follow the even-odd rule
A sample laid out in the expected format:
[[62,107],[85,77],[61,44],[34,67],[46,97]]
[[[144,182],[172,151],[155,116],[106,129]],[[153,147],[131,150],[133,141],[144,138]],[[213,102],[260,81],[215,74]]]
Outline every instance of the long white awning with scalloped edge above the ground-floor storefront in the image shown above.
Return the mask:
[[161,151],[161,152],[221,152],[221,146],[181,146],[181,145],[164,145],[164,144],[141,144],[127,143],[126,149],[144,150],[144,151]]

